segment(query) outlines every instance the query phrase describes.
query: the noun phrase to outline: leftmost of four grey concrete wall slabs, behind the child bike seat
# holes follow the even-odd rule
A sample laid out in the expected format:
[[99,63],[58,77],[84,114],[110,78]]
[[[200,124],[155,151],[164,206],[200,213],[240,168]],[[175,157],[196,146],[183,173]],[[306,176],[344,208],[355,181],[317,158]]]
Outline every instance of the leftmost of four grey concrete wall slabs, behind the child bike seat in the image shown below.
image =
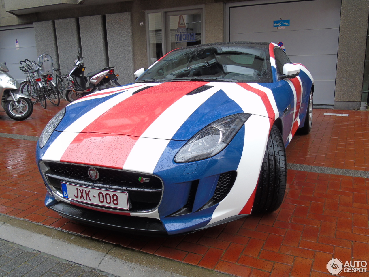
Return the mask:
[[51,55],[54,61],[54,68],[59,68],[54,21],[34,22],[33,26],[35,30],[37,56],[39,57],[42,54]]

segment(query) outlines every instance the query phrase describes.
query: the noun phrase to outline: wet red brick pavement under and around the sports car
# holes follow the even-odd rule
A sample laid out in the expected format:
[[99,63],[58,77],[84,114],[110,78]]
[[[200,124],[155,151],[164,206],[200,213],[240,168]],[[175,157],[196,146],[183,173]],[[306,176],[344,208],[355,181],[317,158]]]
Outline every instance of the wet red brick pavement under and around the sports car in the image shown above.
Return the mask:
[[[25,122],[1,114],[0,132],[39,136],[60,109],[36,105]],[[311,134],[294,137],[287,147],[289,163],[368,168],[368,119],[367,112],[315,110]],[[289,170],[286,197],[273,213],[152,238],[92,228],[45,208],[35,146],[35,141],[0,137],[0,213],[235,276],[328,277],[326,264],[332,257],[369,262],[369,179]]]

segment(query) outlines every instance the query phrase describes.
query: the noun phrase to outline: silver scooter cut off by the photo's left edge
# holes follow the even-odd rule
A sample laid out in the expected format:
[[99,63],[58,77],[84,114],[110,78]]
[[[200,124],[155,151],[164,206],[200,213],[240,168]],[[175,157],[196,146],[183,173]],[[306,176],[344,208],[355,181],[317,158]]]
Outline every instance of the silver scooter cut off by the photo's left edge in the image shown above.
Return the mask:
[[20,84],[10,76],[6,62],[0,63],[0,111],[11,119],[25,120],[33,112],[31,97],[19,92]]

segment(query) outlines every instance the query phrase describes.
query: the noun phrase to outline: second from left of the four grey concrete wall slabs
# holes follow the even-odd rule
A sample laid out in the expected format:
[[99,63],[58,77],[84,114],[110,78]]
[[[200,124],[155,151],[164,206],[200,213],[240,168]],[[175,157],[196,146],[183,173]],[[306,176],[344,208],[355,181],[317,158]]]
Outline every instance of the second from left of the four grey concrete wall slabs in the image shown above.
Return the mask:
[[61,73],[69,74],[77,58],[77,48],[80,47],[77,19],[55,20],[55,30]]

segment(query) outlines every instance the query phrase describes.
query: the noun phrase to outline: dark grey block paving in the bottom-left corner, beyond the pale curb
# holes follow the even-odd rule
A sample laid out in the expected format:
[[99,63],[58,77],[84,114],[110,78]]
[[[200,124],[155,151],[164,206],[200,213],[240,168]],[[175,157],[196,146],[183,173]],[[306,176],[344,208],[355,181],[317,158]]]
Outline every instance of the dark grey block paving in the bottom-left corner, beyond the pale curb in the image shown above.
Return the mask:
[[1,277],[115,277],[0,239]]

